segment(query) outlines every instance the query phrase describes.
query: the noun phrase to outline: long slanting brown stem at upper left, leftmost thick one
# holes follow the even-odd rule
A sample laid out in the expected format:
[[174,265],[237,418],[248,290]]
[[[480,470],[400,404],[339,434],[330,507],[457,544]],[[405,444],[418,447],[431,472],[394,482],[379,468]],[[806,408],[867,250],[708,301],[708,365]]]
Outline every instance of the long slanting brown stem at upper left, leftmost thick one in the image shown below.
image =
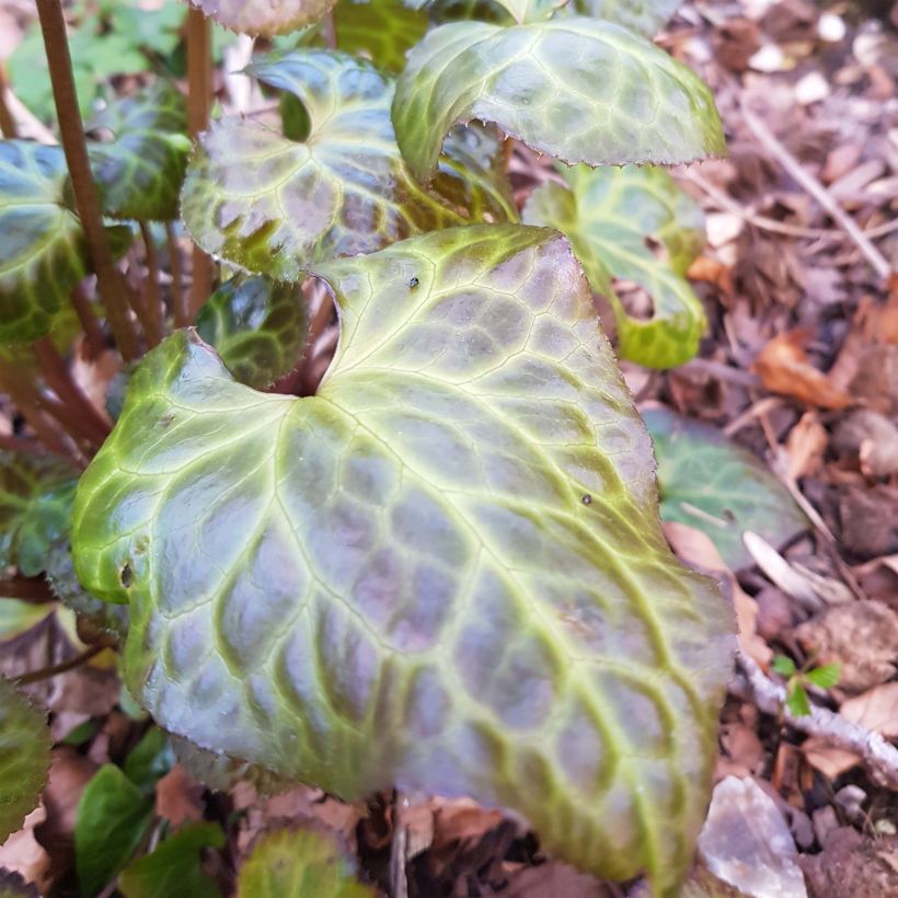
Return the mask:
[[74,88],[69,42],[66,37],[66,20],[62,15],[60,0],[37,0],[37,14],[44,35],[62,150],[69,166],[74,203],[84,228],[88,252],[96,272],[100,295],[118,349],[126,361],[131,361],[140,354],[137,334],[131,325],[128,304],[125,300],[127,288],[120,272],[115,267],[103,227],[100,200],[96,196],[88,147],[84,141],[84,125],[78,110],[78,94]]

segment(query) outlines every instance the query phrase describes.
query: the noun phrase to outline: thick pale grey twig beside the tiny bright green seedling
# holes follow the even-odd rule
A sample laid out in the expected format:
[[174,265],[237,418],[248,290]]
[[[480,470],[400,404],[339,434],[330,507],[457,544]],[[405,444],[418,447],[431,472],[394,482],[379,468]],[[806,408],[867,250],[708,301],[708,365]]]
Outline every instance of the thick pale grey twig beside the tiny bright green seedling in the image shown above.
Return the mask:
[[[898,788],[898,748],[878,733],[852,723],[841,714],[819,705],[811,705],[810,714],[795,716],[786,706],[786,689],[773,682],[744,652],[736,653],[736,659],[745,674],[745,684],[750,700],[764,712],[781,717],[795,729],[808,736],[819,736],[838,748],[859,755],[871,778],[880,785]],[[738,694],[739,684],[735,691]]]

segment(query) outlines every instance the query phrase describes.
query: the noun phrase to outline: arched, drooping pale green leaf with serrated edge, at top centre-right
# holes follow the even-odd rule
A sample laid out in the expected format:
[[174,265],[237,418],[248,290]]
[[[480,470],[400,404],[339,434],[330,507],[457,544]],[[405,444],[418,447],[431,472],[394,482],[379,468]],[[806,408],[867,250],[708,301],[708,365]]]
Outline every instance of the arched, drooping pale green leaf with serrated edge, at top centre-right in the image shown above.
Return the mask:
[[640,37],[589,19],[457,22],[410,54],[393,100],[402,154],[430,177],[444,135],[472,118],[565,162],[689,162],[724,152],[711,92]]

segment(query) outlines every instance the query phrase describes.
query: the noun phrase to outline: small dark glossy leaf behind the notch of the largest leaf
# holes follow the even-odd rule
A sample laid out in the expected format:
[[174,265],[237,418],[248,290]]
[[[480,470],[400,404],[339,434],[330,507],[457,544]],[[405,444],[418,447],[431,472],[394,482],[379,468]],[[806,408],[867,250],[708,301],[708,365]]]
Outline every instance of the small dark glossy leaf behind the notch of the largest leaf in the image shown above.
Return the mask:
[[298,364],[306,299],[295,284],[231,278],[200,309],[196,330],[241,383],[261,390]]

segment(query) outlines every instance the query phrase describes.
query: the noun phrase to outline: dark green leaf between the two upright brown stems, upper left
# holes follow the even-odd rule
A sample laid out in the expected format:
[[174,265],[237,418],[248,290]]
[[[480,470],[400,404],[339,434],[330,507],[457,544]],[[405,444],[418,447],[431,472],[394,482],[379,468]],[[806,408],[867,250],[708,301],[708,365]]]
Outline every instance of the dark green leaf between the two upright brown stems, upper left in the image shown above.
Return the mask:
[[91,119],[88,130],[113,137],[89,145],[106,215],[141,221],[177,217],[191,149],[186,101],[179,91],[156,82],[115,100]]

